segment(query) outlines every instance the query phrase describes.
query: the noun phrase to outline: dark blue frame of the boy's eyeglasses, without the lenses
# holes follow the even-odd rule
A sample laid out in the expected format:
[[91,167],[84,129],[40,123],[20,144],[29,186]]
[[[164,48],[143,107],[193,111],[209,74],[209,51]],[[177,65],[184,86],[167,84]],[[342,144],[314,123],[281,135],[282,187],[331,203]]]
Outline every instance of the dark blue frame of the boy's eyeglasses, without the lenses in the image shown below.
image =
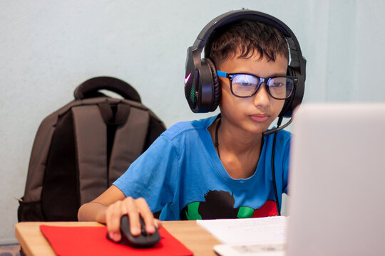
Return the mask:
[[[234,78],[235,75],[251,75],[252,77],[255,77],[255,78],[258,78],[258,80],[260,81],[260,83],[257,85],[257,87],[255,87],[255,92],[253,92],[251,95],[249,96],[239,96],[239,95],[236,95],[233,91],[232,91],[232,79]],[[269,86],[267,86],[267,82],[270,81],[270,79],[272,78],[260,78],[259,76],[257,75],[252,75],[252,74],[248,74],[248,73],[226,73],[226,72],[223,72],[223,71],[220,71],[220,70],[217,70],[217,76],[218,77],[221,77],[221,78],[227,78],[228,80],[230,80],[230,90],[231,90],[231,93],[232,95],[234,95],[235,97],[242,97],[242,98],[245,98],[245,97],[252,97],[252,95],[255,95],[257,93],[258,90],[260,90],[260,87],[262,85],[262,83],[266,82],[266,90],[267,90],[267,93],[269,93],[269,95],[275,99],[275,100],[287,100],[289,99],[289,97],[292,96],[292,93],[294,92],[295,90],[295,86],[297,85],[297,82],[298,82],[298,78],[296,77],[293,77],[293,76],[290,76],[290,75],[276,75],[272,78],[290,78],[293,80],[293,89],[292,91],[290,92],[290,94],[283,98],[283,99],[280,99],[280,98],[277,98],[277,97],[274,97],[272,95],[272,93],[270,92],[270,89],[269,89]]]

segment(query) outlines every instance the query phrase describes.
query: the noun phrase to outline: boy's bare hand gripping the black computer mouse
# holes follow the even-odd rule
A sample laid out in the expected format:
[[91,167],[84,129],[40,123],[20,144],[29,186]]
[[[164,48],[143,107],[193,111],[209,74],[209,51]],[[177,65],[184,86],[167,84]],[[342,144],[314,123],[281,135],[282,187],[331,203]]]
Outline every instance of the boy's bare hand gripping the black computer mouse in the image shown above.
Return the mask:
[[122,201],[111,204],[106,210],[108,235],[116,242],[121,239],[120,218],[125,214],[130,219],[130,230],[133,235],[140,235],[140,216],[144,220],[145,230],[150,234],[155,232],[155,227],[159,228],[161,225],[160,220],[154,218],[144,198],[133,199],[129,196]]

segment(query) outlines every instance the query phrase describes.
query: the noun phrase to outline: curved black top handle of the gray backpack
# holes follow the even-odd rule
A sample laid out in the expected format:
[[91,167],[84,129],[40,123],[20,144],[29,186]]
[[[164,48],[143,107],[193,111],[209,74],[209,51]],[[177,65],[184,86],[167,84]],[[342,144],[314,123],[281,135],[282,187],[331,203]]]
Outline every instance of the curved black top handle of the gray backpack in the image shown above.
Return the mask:
[[76,100],[83,100],[89,97],[101,96],[98,90],[110,90],[127,100],[141,102],[138,92],[127,82],[112,77],[96,77],[86,80],[76,87],[73,96]]

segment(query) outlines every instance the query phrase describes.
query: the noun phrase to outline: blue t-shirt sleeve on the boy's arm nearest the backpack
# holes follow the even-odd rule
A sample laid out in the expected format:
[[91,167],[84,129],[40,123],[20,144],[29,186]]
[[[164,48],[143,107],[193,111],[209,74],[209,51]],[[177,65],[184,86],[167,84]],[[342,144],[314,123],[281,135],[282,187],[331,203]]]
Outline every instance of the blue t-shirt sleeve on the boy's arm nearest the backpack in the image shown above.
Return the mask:
[[155,213],[173,202],[179,179],[178,166],[178,154],[173,142],[160,135],[113,185],[125,196],[145,198],[150,210]]

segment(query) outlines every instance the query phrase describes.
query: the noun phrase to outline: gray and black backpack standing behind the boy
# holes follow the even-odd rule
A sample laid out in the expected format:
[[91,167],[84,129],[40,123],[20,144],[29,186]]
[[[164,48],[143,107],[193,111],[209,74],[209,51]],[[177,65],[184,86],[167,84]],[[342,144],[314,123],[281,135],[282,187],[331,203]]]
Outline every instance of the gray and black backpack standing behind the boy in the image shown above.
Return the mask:
[[36,133],[19,221],[76,221],[78,208],[106,191],[165,131],[122,80],[91,78],[74,96],[43,119]]

